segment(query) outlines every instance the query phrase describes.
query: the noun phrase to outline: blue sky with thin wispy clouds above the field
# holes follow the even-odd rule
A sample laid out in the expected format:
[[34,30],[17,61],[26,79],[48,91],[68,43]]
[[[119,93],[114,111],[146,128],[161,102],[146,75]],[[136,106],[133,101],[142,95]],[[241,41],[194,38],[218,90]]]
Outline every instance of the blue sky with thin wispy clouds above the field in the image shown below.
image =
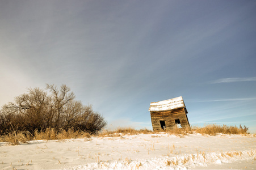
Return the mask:
[[108,128],[152,129],[183,96],[191,125],[256,133],[256,1],[0,1],[0,107],[66,84]]

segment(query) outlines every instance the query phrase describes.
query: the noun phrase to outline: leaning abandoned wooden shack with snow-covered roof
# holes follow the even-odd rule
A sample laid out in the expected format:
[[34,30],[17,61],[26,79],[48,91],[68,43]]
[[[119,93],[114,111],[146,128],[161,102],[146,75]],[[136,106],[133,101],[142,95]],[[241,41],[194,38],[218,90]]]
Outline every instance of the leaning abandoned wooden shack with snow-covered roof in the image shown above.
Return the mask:
[[177,126],[190,126],[187,118],[187,108],[182,96],[169,100],[150,103],[149,108],[154,131],[168,130]]

